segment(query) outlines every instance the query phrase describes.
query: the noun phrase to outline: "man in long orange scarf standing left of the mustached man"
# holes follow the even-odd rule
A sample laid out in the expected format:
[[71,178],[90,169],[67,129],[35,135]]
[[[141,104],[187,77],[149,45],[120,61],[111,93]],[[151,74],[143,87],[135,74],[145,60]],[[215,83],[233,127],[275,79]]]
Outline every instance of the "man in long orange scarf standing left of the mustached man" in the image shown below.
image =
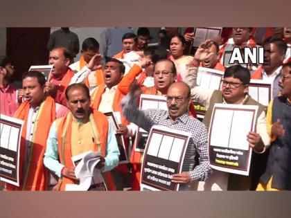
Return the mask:
[[19,158],[19,187],[6,183],[6,190],[46,190],[47,174],[43,164],[46,138],[51,124],[68,109],[46,96],[45,78],[38,71],[24,73],[22,89],[26,100],[15,118],[24,120]]

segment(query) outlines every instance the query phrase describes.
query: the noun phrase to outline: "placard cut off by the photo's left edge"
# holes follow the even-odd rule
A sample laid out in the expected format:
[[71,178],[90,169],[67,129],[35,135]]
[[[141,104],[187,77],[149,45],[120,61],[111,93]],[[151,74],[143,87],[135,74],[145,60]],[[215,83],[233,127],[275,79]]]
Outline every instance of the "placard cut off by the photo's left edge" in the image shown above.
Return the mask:
[[0,114],[0,180],[19,186],[19,152],[24,120]]

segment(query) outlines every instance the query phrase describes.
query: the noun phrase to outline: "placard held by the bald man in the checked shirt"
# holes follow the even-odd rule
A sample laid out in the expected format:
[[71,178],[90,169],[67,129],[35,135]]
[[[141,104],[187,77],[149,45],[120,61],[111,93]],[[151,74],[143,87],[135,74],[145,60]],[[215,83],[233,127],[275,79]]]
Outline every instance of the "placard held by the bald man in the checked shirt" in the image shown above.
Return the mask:
[[179,190],[172,175],[182,173],[191,134],[163,126],[153,126],[141,164],[141,190]]

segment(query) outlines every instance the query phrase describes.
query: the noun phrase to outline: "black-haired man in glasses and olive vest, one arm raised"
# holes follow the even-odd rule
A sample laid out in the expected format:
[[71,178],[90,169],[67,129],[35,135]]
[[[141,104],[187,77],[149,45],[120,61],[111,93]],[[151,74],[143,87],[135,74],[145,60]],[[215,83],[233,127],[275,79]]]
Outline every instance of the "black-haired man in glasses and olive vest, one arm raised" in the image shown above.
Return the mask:
[[[250,176],[240,176],[236,174],[227,174],[219,171],[214,171],[211,179],[206,181],[204,188],[208,186],[211,190],[250,190],[256,188],[258,178],[263,172],[259,172],[259,167],[256,167],[256,161],[262,162],[262,155],[257,153],[265,152],[265,147],[270,145],[270,137],[267,134],[266,113],[265,107],[248,95],[248,85],[250,81],[249,70],[243,66],[230,66],[223,75],[221,91],[210,91],[196,86],[197,68],[200,62],[205,60],[209,55],[209,47],[212,42],[206,40],[203,42],[195,53],[191,68],[186,76],[186,83],[191,88],[191,98],[196,100],[201,105],[206,107],[207,111],[204,117],[204,124],[209,127],[211,114],[215,103],[234,104],[234,105],[258,105],[258,115],[256,118],[256,131],[250,131],[246,138],[249,142],[249,147],[254,149],[252,155],[252,166]],[[256,158],[260,160],[256,160]],[[261,169],[261,168],[260,168]],[[257,171],[258,170],[258,171]],[[263,171],[263,170],[262,170]],[[224,178],[228,181],[225,184]]]

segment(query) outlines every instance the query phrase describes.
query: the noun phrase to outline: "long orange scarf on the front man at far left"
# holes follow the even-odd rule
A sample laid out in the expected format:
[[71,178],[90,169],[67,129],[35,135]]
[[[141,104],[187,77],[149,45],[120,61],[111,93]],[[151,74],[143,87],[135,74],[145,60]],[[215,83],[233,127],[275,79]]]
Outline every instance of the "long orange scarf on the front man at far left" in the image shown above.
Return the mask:
[[7,190],[46,190],[46,170],[44,168],[44,152],[46,151],[46,138],[48,137],[51,124],[55,120],[55,101],[50,96],[40,105],[35,119],[33,129],[33,140],[28,156],[28,165],[25,172],[22,172],[24,153],[26,148],[26,127],[30,105],[24,101],[17,111],[15,118],[24,120],[21,132],[20,157],[19,157],[19,187],[7,184]]

